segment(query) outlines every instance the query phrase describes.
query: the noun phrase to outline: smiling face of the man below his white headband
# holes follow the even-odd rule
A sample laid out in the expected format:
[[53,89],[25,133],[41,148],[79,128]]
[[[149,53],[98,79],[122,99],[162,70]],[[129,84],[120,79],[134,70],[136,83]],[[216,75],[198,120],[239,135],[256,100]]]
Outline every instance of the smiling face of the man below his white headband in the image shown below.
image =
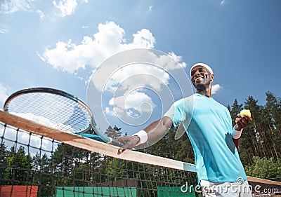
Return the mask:
[[191,82],[197,90],[204,90],[209,87],[214,75],[208,69],[202,66],[194,67],[191,70]]

